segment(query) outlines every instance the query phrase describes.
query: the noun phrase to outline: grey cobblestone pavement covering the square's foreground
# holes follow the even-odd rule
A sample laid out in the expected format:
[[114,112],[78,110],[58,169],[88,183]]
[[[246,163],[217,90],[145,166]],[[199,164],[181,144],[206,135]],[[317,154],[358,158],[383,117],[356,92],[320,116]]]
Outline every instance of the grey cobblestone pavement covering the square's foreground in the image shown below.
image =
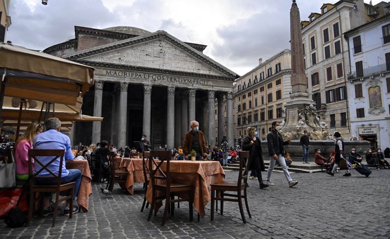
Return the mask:
[[[226,172],[234,180],[238,172]],[[263,172],[265,178],[266,172]],[[28,228],[8,228],[0,224],[0,238],[389,238],[390,170],[373,171],[366,178],[356,171],[351,177],[336,173],[292,174],[299,183],[289,188],[282,173],[273,173],[274,186],[259,190],[249,181],[248,201],[252,218],[241,221],[237,203],[225,203],[224,216],[206,215],[189,221],[188,203],[183,202],[162,227],[162,212],[147,222],[148,209],[140,212],[143,191],[137,184],[135,195],[123,194],[119,187],[110,198],[93,184],[88,213],[72,219],[60,214],[56,227],[51,216],[35,217]]]

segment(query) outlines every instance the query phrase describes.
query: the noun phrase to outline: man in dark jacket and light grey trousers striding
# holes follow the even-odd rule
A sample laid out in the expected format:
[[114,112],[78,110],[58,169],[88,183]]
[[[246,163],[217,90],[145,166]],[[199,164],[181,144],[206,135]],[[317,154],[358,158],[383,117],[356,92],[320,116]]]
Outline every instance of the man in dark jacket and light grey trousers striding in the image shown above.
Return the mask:
[[280,125],[279,122],[274,121],[272,122],[272,130],[267,135],[267,143],[268,143],[268,152],[270,155],[270,165],[268,166],[267,171],[267,180],[266,183],[268,185],[275,185],[271,182],[271,174],[274,170],[276,161],[279,162],[279,165],[281,165],[283,169],[284,176],[286,177],[287,181],[289,182],[289,187],[294,187],[298,184],[298,181],[294,181],[293,178],[290,176],[289,169],[287,168],[287,165],[284,161],[283,156],[283,145],[287,145],[291,143],[291,139],[287,141],[283,141],[283,136],[279,133]]

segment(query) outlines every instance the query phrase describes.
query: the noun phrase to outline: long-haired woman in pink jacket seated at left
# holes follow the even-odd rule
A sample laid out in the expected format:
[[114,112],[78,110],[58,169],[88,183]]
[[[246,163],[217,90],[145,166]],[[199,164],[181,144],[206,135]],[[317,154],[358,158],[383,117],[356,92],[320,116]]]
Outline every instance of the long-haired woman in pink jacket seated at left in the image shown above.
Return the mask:
[[33,122],[16,141],[16,179],[25,180],[29,178],[29,149],[33,148],[33,139],[42,132],[42,129],[40,124]]

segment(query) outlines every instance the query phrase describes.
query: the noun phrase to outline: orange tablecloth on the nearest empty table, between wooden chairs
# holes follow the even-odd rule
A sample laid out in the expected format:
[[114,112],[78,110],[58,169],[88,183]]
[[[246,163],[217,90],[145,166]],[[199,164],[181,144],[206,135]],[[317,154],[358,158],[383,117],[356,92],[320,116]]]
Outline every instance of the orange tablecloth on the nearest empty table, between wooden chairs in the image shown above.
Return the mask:
[[[166,169],[166,164],[161,166]],[[171,161],[171,179],[174,182],[192,183],[195,185],[194,208],[200,216],[204,216],[204,208],[210,202],[210,184],[223,180],[225,172],[219,162],[216,161]],[[151,203],[152,190],[149,183],[146,199]],[[160,208],[162,202],[158,202],[156,208]]]

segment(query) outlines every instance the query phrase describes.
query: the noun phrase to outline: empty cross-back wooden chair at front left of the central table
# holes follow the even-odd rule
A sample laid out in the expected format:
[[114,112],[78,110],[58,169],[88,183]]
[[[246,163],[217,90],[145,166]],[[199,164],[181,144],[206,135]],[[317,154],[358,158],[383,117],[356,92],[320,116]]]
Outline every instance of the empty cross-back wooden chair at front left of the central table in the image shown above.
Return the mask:
[[[160,162],[158,163],[154,158],[159,158]],[[152,202],[150,205],[150,211],[148,216],[148,221],[150,221],[151,215],[155,203],[159,199],[165,198],[165,208],[162,226],[165,225],[167,220],[167,213],[169,205],[171,206],[171,214],[173,215],[173,208],[175,202],[189,201],[190,209],[190,221],[193,221],[193,200],[194,200],[194,185],[187,183],[175,183],[171,182],[170,175],[170,160],[171,160],[171,151],[157,150],[150,151],[149,154],[149,170],[150,170],[150,180],[152,185]],[[163,163],[166,163],[165,172],[161,169]],[[161,192],[163,195],[158,196],[157,192]],[[174,199],[174,196],[178,196],[175,193],[185,193],[186,197]]]

